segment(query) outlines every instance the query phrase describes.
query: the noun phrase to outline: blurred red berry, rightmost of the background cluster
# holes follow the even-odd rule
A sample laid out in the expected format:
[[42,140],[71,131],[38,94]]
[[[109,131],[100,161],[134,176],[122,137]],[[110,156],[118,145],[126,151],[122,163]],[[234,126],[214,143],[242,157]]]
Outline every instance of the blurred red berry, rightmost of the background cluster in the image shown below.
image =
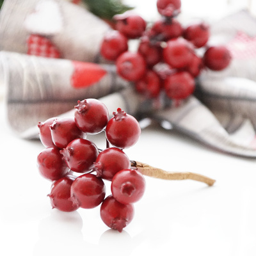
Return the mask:
[[231,59],[230,51],[223,45],[209,47],[204,53],[204,65],[211,70],[223,70]]

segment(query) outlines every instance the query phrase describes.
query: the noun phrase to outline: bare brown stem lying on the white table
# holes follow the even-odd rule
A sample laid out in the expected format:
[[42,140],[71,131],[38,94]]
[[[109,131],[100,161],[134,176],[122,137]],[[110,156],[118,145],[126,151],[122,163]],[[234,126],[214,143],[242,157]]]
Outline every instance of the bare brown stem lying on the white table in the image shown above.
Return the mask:
[[148,164],[144,164],[138,161],[131,161],[131,167],[138,170],[143,175],[150,177],[165,179],[165,180],[197,180],[206,183],[208,186],[212,186],[215,180],[210,179],[204,175],[193,172],[166,172],[162,169],[152,167]]

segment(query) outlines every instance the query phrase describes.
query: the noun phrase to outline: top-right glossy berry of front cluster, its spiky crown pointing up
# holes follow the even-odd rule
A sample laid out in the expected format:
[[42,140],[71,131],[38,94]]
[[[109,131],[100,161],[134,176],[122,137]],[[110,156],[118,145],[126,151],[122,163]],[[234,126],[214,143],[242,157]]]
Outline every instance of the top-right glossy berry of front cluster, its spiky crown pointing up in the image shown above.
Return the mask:
[[106,126],[106,137],[113,146],[118,148],[132,147],[140,138],[141,129],[138,121],[118,108],[113,112]]

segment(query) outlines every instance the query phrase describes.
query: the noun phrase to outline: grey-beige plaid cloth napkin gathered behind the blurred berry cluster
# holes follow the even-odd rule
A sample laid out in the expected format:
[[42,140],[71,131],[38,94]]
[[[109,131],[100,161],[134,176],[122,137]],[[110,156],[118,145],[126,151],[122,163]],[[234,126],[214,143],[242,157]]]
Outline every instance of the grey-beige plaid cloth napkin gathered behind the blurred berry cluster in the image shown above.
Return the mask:
[[[68,62],[67,60],[54,61],[52,58],[46,58],[45,60],[37,57],[29,58],[28,56],[19,55],[17,53],[9,54],[6,51],[28,54],[29,52],[31,53],[31,49],[33,49],[34,52],[32,53],[36,55],[45,55],[45,52],[49,52],[48,56],[54,56],[54,58],[60,57],[73,61],[108,63],[108,61],[100,57],[99,49],[104,33],[111,31],[111,28],[104,21],[95,17],[86,9],[76,6],[76,4],[54,0],[45,0],[38,3],[36,1],[24,1],[23,4],[26,8],[22,9],[22,12],[20,12],[13,1],[6,0],[4,8],[1,11],[0,19],[3,24],[3,26],[0,26],[0,36],[2,38],[0,49],[3,51],[1,53],[1,73],[3,79],[6,81],[8,91],[7,102],[10,125],[17,132],[22,131],[22,133],[20,133],[22,138],[35,138],[37,136],[36,124],[38,120],[44,119],[43,116],[47,119],[52,115],[65,115],[64,113],[69,110],[67,106],[70,106],[69,108],[72,109],[77,97],[95,97],[99,99],[111,92],[119,91],[121,88],[124,88],[124,85],[127,87],[131,82],[127,81],[125,84],[122,79],[115,74],[115,65],[113,65],[113,61],[110,61],[109,65],[113,66],[109,67],[113,70],[111,74],[115,74],[113,77],[116,77],[116,82],[112,83],[111,80],[108,80],[109,86],[111,86],[108,90],[102,90],[102,88],[108,88],[104,85],[104,79],[102,83],[100,83],[102,85],[96,83],[92,87],[85,88],[84,90],[81,88],[77,91],[72,89],[72,93],[75,93],[73,95],[68,91],[62,91],[64,94],[60,94],[58,100],[56,97],[53,97],[55,100],[55,103],[53,103],[53,98],[51,98],[51,102],[49,101],[50,98],[48,99],[48,97],[51,97],[49,93],[44,96],[42,95],[44,90],[35,90],[34,88],[31,92],[38,93],[37,97],[40,99],[38,102],[40,102],[41,105],[44,104],[42,106],[45,106],[45,108],[41,108],[41,105],[38,104],[39,108],[37,110],[33,108],[33,115],[20,115],[20,112],[26,113],[25,111],[21,111],[23,107],[20,108],[20,106],[28,108],[28,102],[35,104],[37,101],[35,100],[36,98],[33,98],[35,95],[28,97],[26,92],[30,91],[23,91],[24,89],[21,90],[22,87],[17,91],[17,83],[14,81],[18,78],[22,79],[22,77],[18,75],[22,73],[21,70],[24,70],[25,78],[27,77],[25,74],[28,73],[30,76],[35,77],[34,79],[36,83],[40,84],[40,88],[45,87],[47,88],[46,91],[49,91],[49,88],[51,88],[51,91],[54,92],[55,86],[58,88],[58,85],[52,83],[50,86],[48,83],[46,84],[47,80],[42,83],[44,80],[40,77],[42,77],[43,74],[44,76],[52,77],[54,68],[46,68],[50,66],[56,66],[56,74],[60,72],[58,76],[61,77],[62,72],[58,66],[67,67],[67,63],[72,62]],[[43,22],[43,20],[46,19],[45,15],[47,13],[45,10],[48,9],[51,9],[51,12],[49,13],[49,20],[47,22],[51,21],[52,26],[47,25],[47,22]],[[33,10],[36,10],[36,12],[33,12]],[[16,20],[10,19],[10,12],[17,13],[17,15],[15,15]],[[81,20],[81,22],[74,22],[74,16]],[[24,22],[20,22],[22,19],[24,19]],[[31,20],[34,21],[32,22]],[[36,22],[36,20],[38,21]],[[42,22],[40,22],[40,20]],[[63,24],[67,22],[68,26],[64,28]],[[19,26],[16,26],[17,23]],[[94,25],[93,29],[91,24]],[[116,106],[114,102],[117,97],[116,95],[120,95],[118,96],[118,102],[123,102],[122,106],[125,106],[127,112],[136,115],[137,118],[151,118],[151,120],[155,120],[161,125],[164,124],[164,127],[166,127],[168,123],[169,128],[172,127],[172,129],[187,134],[223,152],[239,156],[255,157],[255,117],[252,109],[255,102],[253,92],[255,90],[254,83],[256,83],[256,81],[252,80],[254,72],[250,71],[253,66],[248,65],[248,63],[252,64],[255,59],[252,58],[252,54],[246,55],[246,53],[243,53],[241,60],[241,49],[243,48],[241,48],[241,45],[246,45],[243,48],[243,52],[251,51],[251,47],[247,46],[248,44],[253,44],[253,40],[241,40],[241,38],[237,38],[237,35],[239,35],[237,33],[240,33],[239,31],[244,31],[249,38],[253,38],[252,36],[255,35],[253,28],[255,28],[255,26],[252,26],[252,24],[255,24],[255,20],[245,11],[236,13],[236,15],[230,15],[216,22],[216,24],[211,24],[209,44],[214,44],[214,40],[218,38],[221,44],[229,45],[228,47],[233,54],[232,63],[230,67],[225,68],[223,71],[215,72],[203,70],[202,74],[196,79],[196,91],[194,95],[188,99],[182,100],[179,103],[180,106],[177,106],[175,100],[168,100],[164,95],[160,95],[157,99],[147,99],[147,97],[143,95],[136,95],[137,93],[130,89],[120,93],[116,92],[113,95],[113,100],[111,100],[111,95],[109,95],[107,101],[111,102],[113,106],[108,103],[108,108],[113,109],[113,111],[115,110]],[[7,27],[10,28],[8,31],[4,29]],[[17,33],[17,31],[19,31],[19,33]],[[82,35],[80,31],[86,31],[86,33]],[[227,31],[230,31],[230,33],[227,33]],[[15,37],[17,37],[17,40],[13,40]],[[90,38],[90,40],[88,40],[88,38]],[[240,44],[239,50],[236,50],[237,48],[235,47],[237,40],[239,40]],[[45,49],[45,45],[48,45],[47,51],[40,52],[40,45],[42,45],[43,49]],[[240,52],[238,58],[234,53],[237,51]],[[27,61],[28,63],[33,63],[35,67],[28,65]],[[16,64],[13,65],[13,63]],[[45,64],[41,65],[40,63]],[[72,67],[72,65],[73,64],[71,64],[70,67]],[[33,68],[31,69],[31,67]],[[74,70],[74,67],[70,70]],[[237,72],[239,73],[235,71],[238,77],[237,79],[232,78],[234,76],[234,71],[232,70],[238,70]],[[47,74],[47,72],[51,72],[52,74]],[[70,77],[72,76],[68,75],[72,73],[70,72],[65,72],[65,74],[69,76],[69,78],[66,79],[67,84],[71,83]],[[245,72],[247,72],[247,74],[245,74]],[[58,76],[54,74],[54,77]],[[63,79],[59,79],[59,81],[63,81]],[[26,79],[22,80],[23,82],[20,82],[20,85],[27,83]],[[52,79],[49,81],[52,81]],[[30,82],[29,84],[30,86],[35,86],[35,84],[31,84]],[[68,86],[70,88],[70,85]],[[26,88],[26,86],[24,86],[24,88]],[[95,88],[95,92],[91,93],[93,92],[93,88]],[[22,97],[19,96],[18,100],[13,96],[12,92],[20,92],[19,95],[22,95]],[[56,92],[58,92],[58,90],[56,90]],[[67,93],[67,97],[65,93]],[[250,95],[250,97],[246,97],[245,93]],[[217,97],[217,95],[220,96]],[[72,100],[70,101],[70,99]],[[19,102],[19,104],[15,106],[15,102]],[[58,104],[58,107],[53,107],[54,104]],[[218,109],[221,109],[221,111],[218,111]],[[20,118],[13,118],[15,112],[19,113],[17,116],[20,116]],[[44,113],[43,115],[42,112]],[[236,113],[236,116],[232,113]],[[204,116],[204,118],[202,116]],[[228,123],[227,116],[229,116],[228,120],[230,120]],[[231,116],[234,116],[234,118],[231,118]],[[26,122],[24,122],[25,119]],[[15,122],[13,122],[13,120],[15,120]],[[225,123],[223,120],[225,120]],[[20,122],[24,122],[24,124]]]

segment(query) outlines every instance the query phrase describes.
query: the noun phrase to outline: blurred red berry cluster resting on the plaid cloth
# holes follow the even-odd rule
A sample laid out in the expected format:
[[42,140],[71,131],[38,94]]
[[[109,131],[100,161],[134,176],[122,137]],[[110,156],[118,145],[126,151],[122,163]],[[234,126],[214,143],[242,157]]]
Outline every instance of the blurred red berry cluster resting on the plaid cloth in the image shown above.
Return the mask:
[[[157,0],[161,19],[147,25],[131,11],[115,15],[116,30],[109,31],[100,52],[115,61],[120,76],[135,84],[146,97],[164,91],[170,99],[186,99],[195,90],[195,78],[203,68],[223,70],[231,60],[223,45],[209,46],[209,25],[196,22],[186,28],[176,19],[180,0]],[[129,51],[130,39],[138,39],[135,52]]]

